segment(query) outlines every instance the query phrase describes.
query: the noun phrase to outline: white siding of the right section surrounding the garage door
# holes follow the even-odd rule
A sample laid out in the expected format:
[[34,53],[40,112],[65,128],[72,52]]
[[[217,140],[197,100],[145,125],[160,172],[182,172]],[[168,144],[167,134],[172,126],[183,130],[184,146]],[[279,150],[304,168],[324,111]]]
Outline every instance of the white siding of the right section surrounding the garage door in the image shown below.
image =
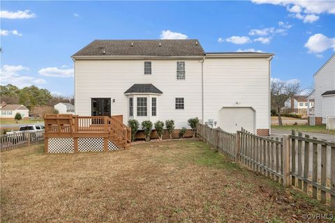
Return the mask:
[[256,129],[269,129],[268,59],[205,59],[204,120],[218,121],[222,107],[253,107]]

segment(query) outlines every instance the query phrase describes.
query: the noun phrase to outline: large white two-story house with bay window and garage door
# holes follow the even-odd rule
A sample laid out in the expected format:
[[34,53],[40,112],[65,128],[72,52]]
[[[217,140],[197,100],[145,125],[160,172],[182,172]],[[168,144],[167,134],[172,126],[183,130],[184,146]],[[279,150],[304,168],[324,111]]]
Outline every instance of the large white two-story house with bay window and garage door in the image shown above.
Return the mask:
[[268,135],[273,55],[205,53],[198,40],[94,40],[72,56],[75,114],[172,119],[176,129],[198,117]]

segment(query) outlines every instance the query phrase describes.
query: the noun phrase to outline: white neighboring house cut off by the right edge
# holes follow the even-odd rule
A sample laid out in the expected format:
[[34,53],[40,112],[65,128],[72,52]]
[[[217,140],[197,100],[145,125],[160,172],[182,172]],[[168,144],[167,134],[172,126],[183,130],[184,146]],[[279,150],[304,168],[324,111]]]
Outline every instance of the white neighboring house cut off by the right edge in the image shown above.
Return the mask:
[[[315,100],[315,122],[334,122],[335,129],[335,54],[313,75],[314,90],[308,100]],[[313,112],[313,111],[311,111]]]

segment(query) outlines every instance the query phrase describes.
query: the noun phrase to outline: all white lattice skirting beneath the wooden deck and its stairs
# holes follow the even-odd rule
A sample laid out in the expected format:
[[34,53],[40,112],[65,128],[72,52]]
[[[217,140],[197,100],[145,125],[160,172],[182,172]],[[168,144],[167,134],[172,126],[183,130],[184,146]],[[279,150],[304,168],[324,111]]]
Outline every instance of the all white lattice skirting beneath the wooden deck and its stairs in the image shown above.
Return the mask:
[[[108,140],[108,151],[116,151],[120,148]],[[49,138],[49,153],[74,153],[72,138]],[[103,152],[103,138],[78,138],[78,152]]]

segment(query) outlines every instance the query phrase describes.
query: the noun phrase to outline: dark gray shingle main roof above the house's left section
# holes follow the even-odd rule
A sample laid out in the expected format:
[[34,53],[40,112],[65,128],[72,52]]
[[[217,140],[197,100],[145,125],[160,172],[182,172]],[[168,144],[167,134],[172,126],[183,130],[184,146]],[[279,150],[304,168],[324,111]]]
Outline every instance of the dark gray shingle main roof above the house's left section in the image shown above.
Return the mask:
[[199,40],[94,40],[73,56],[202,55],[204,55],[204,49],[202,49]]

